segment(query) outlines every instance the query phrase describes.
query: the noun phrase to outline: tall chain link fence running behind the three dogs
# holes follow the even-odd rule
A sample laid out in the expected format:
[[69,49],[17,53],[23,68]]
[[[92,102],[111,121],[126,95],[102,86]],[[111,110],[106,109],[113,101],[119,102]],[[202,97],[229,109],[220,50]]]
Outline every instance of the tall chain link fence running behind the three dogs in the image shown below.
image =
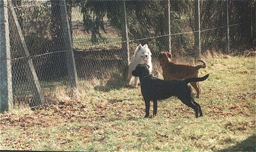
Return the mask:
[[12,98],[1,97],[1,109],[8,107],[3,100],[44,104],[55,82],[74,86],[122,73],[138,44],[149,45],[155,62],[160,51],[194,59],[207,51],[238,54],[256,47],[255,1],[17,0],[2,6],[9,26],[1,22],[7,32],[1,37],[9,36],[10,54],[1,48],[9,69],[1,67],[7,76],[1,92]]

